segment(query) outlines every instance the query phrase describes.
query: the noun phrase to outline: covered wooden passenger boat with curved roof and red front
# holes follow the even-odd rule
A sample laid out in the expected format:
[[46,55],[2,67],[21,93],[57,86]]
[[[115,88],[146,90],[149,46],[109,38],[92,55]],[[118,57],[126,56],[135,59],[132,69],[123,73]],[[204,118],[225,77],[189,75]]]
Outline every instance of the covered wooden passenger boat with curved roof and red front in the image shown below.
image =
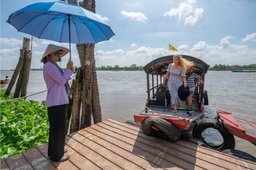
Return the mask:
[[[192,61],[194,63],[193,70],[204,80],[204,75],[210,65],[192,56],[182,55],[182,58]],[[143,67],[147,74],[148,98],[145,110],[140,114],[134,115],[134,120],[136,123],[142,123],[143,120],[149,117],[158,117],[174,124],[180,130],[188,130],[191,123],[195,122],[203,114],[204,105],[208,105],[207,91],[204,91],[203,84],[196,82],[195,94],[192,97],[192,110],[186,109],[185,102],[182,102],[182,106],[177,108],[177,113],[173,113],[173,108],[166,106],[165,94],[160,91],[161,88],[159,87],[170,63],[173,63],[173,55],[157,58]],[[149,78],[150,75],[152,76],[152,81]],[[155,78],[156,84],[154,82]],[[150,84],[152,88],[150,88]],[[154,125],[154,127],[161,130],[157,125]]]

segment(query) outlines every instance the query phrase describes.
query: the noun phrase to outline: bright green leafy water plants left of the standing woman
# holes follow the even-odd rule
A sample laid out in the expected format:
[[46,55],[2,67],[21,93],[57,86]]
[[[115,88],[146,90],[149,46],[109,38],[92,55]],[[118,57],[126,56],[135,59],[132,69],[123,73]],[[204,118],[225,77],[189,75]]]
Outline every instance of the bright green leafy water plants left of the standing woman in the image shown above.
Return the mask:
[[[13,93],[3,96],[0,102],[12,99]],[[48,142],[49,122],[45,101],[18,99],[1,103],[0,154],[5,159]]]

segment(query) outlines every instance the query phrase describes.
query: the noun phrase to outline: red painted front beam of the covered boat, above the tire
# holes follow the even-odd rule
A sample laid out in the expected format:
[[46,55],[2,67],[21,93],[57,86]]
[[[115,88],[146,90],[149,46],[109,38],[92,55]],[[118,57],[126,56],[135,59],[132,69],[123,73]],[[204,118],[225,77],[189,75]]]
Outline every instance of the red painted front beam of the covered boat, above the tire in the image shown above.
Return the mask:
[[135,114],[134,121],[136,123],[142,123],[143,120],[147,119],[148,116],[155,116],[165,119],[167,122],[175,124],[178,129],[188,130],[190,126],[190,119],[188,118],[181,118],[178,116],[163,116],[163,115],[151,115],[151,114]]

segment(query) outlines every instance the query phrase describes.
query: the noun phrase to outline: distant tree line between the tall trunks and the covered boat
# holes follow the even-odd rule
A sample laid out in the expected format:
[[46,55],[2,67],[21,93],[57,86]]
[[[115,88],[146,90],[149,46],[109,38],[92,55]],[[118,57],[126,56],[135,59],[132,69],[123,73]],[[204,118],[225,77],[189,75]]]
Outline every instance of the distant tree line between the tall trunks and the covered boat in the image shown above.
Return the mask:
[[118,65],[112,66],[101,66],[96,67],[97,71],[111,71],[111,70],[123,70],[123,71],[143,71],[143,66],[136,66],[136,64],[132,64],[130,67],[119,67]]

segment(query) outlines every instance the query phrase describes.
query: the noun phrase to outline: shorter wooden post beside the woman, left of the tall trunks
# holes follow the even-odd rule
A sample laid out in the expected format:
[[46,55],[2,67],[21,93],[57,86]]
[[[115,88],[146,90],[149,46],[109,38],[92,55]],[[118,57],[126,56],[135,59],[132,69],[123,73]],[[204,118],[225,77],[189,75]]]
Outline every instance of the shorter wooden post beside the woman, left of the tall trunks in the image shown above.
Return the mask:
[[70,133],[79,131],[80,126],[80,110],[81,110],[81,97],[82,97],[82,87],[83,87],[83,70],[78,68],[75,79],[75,89],[74,89],[74,101],[72,109],[72,118],[70,125]]

